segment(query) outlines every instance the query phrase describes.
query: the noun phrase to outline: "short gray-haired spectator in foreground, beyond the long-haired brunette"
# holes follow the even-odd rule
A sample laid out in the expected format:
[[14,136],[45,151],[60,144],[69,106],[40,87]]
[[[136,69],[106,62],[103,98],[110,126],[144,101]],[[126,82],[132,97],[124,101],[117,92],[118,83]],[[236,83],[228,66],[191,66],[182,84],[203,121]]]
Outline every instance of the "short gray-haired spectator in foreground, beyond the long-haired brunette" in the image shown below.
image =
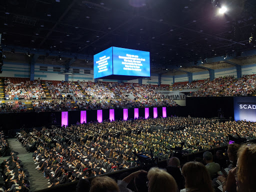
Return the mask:
[[217,175],[217,172],[220,171],[219,164],[213,162],[212,154],[209,151],[205,151],[202,156],[203,156],[203,161],[206,164],[205,167],[209,172],[211,179],[215,178]]

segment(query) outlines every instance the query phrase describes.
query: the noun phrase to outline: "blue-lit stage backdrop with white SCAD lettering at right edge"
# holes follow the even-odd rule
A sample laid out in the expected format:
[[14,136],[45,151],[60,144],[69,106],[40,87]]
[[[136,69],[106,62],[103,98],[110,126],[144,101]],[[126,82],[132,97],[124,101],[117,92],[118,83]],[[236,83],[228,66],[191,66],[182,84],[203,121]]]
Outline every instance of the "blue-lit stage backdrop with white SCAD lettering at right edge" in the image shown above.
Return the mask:
[[234,120],[256,121],[256,97],[234,97]]

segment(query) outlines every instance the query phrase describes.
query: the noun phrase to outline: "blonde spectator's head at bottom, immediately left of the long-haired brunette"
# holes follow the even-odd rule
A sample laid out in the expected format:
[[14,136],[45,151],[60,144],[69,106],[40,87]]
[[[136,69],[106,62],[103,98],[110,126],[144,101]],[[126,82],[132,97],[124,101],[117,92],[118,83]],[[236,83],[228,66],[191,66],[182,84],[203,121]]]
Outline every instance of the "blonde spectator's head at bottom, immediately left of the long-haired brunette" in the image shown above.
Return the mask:
[[152,167],[147,173],[148,192],[176,192],[175,179],[165,170]]

